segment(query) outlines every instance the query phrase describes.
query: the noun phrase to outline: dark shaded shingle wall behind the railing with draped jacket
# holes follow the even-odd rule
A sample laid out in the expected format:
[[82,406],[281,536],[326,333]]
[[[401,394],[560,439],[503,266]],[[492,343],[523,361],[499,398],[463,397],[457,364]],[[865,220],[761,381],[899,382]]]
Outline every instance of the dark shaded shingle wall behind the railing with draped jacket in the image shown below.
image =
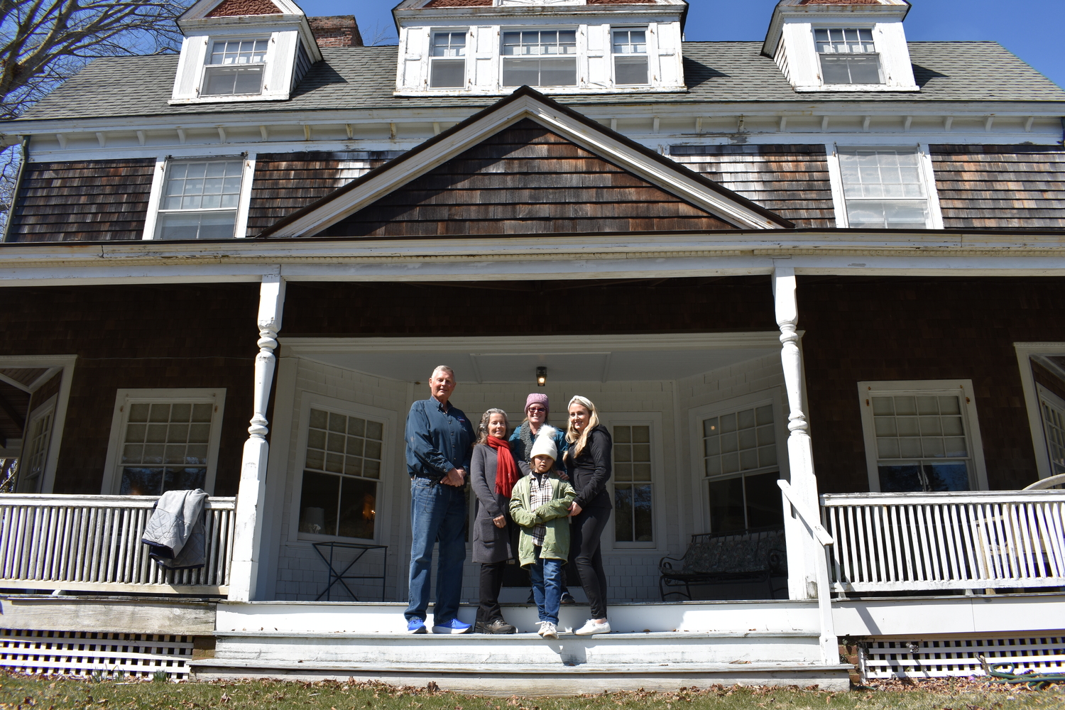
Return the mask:
[[3,295],[0,354],[78,356],[54,493],[100,493],[118,389],[225,387],[214,494],[236,495],[259,352],[258,286],[13,287]]

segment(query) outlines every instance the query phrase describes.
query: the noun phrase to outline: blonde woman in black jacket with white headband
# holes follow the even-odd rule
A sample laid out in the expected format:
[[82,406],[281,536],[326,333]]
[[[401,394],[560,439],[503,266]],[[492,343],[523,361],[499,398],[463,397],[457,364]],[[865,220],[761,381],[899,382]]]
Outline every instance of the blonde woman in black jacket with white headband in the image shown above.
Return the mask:
[[577,498],[570,508],[570,560],[580,575],[580,585],[591,605],[591,618],[576,629],[577,635],[609,633],[606,617],[606,573],[600,542],[610,519],[610,452],[613,441],[606,427],[599,423],[595,404],[579,395],[570,400],[569,428],[566,441],[566,465]]

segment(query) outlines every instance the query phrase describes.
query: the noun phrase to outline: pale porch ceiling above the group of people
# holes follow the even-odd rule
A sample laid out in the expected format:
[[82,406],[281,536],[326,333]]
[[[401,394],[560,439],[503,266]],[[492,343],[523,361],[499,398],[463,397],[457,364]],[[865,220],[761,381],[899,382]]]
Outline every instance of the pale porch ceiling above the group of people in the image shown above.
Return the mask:
[[280,339],[282,356],[403,381],[449,365],[460,382],[677,380],[779,353],[780,334],[691,333],[472,339]]

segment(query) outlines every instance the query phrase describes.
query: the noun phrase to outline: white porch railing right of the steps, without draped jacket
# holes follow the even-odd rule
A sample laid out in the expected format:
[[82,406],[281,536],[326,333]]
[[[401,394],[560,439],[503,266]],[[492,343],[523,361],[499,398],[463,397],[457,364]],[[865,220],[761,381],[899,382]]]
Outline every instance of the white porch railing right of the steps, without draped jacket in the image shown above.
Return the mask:
[[832,591],[1065,587],[1065,491],[821,496]]

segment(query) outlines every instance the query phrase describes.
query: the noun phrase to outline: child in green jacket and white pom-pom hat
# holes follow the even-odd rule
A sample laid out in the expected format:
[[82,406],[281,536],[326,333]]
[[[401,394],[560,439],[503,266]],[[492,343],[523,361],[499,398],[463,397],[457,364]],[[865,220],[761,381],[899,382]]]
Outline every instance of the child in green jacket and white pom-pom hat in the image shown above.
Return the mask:
[[519,528],[518,560],[532,578],[532,598],[540,615],[538,633],[558,638],[558,607],[562,597],[562,565],[570,557],[570,503],[577,497],[558,477],[558,448],[551,436],[532,444],[532,470],[514,484],[510,518]]

